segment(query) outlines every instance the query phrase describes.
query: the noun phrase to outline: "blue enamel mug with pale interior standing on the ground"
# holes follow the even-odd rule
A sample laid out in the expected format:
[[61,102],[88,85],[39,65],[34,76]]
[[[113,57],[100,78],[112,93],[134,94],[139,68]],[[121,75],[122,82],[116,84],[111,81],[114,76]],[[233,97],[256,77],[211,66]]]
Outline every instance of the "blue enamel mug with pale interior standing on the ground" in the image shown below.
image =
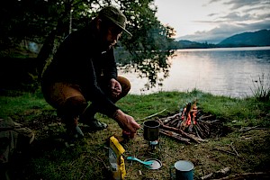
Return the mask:
[[[193,163],[187,160],[179,160],[175,162],[175,166],[171,166],[171,179],[175,180],[193,180]],[[172,168],[175,168],[175,175],[172,173]]]

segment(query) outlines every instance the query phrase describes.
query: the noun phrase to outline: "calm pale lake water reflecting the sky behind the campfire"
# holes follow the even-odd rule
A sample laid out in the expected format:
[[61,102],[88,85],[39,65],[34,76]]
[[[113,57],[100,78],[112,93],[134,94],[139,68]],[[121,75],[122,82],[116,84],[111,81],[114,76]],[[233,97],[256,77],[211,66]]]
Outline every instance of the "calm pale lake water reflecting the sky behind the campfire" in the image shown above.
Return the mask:
[[135,73],[125,73],[130,79],[130,94],[151,94],[160,91],[192,91],[194,88],[211,94],[230,97],[252,95],[255,81],[270,85],[270,47],[224,49],[178,49],[169,76],[162,86],[143,90],[148,81]]

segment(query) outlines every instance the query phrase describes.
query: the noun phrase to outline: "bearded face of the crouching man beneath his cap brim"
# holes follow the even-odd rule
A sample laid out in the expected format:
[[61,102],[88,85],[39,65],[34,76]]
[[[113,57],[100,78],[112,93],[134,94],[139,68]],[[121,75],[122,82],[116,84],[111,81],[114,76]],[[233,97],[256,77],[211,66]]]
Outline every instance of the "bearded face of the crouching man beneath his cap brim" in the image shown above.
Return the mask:
[[103,49],[108,50],[117,43],[121,37],[122,30],[118,26],[110,26],[103,31]]

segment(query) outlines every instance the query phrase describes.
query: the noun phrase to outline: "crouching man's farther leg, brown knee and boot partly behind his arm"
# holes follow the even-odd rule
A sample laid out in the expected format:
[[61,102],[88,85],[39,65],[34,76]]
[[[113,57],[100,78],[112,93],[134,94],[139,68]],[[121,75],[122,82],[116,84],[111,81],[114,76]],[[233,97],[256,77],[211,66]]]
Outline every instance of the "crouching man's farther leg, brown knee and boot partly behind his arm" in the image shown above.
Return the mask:
[[[104,85],[103,82],[101,82],[102,89],[104,93],[108,94],[109,98],[112,100],[113,103],[116,103],[119,101],[122,97],[127,95],[130,92],[130,81],[122,76],[117,77],[117,81],[121,84],[121,94],[117,97],[112,97],[112,94],[110,92],[110,88],[108,88],[108,85]],[[94,115],[96,112],[100,112],[97,108],[97,106],[94,103],[91,103],[85,110],[85,112],[80,116],[80,121],[87,124],[90,129],[92,130],[103,130],[107,128],[107,124],[97,121],[94,118]]]

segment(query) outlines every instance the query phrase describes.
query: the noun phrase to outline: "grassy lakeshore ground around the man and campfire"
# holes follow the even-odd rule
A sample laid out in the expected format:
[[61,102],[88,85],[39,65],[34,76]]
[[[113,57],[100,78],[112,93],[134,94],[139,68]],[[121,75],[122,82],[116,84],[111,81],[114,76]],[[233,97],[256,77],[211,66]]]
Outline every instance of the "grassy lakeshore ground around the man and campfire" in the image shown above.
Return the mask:
[[[157,158],[162,162],[162,167],[150,170],[137,162],[125,161],[126,179],[170,179],[171,166],[180,159],[193,162],[194,179],[200,179],[203,175],[227,166],[230,169],[229,179],[234,179],[233,175],[239,174],[244,179],[243,174],[255,172],[266,172],[269,177],[269,101],[258,101],[256,97],[229,98],[193,90],[186,93],[129,94],[117,105],[142,124],[144,118],[151,114],[166,109],[150,119],[175,114],[185,103],[195,99],[202,112],[215,115],[216,119],[221,120],[223,125],[229,128],[226,136],[216,136],[207,139],[207,142],[186,145],[160,135],[159,146],[150,151],[148,142],[143,139],[143,131],[139,130],[135,139],[122,144],[126,150],[124,156],[140,159]],[[108,179],[106,141],[112,135],[121,136],[121,129],[115,121],[97,114],[100,121],[109,124],[108,129],[85,132],[85,139],[76,142],[75,146],[67,147],[60,138],[65,130],[64,125],[60,123],[56,111],[44,101],[40,93],[2,92],[0,117],[11,117],[14,121],[30,127],[36,134],[36,139],[28,151],[18,157],[16,163],[12,165],[16,179]],[[254,128],[243,130],[247,127]],[[230,147],[231,143],[239,156],[226,152],[234,152]],[[264,179],[262,176],[253,177],[249,175],[247,179]]]

